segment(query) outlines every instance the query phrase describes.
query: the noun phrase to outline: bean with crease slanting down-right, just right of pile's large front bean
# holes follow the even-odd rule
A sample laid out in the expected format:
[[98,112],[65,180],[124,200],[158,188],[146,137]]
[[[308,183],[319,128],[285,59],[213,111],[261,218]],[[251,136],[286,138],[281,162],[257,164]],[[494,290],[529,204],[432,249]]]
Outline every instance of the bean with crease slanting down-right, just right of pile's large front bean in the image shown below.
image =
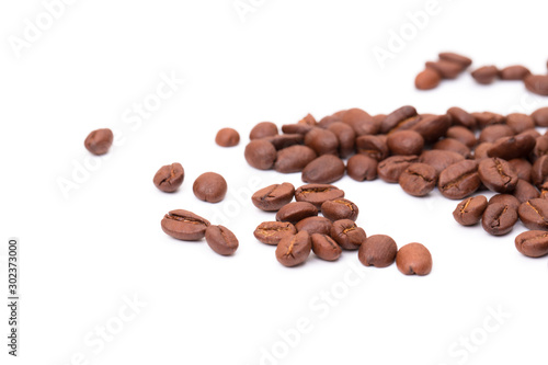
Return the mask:
[[483,185],[492,192],[511,193],[517,184],[517,174],[512,166],[496,157],[482,160],[478,173]]

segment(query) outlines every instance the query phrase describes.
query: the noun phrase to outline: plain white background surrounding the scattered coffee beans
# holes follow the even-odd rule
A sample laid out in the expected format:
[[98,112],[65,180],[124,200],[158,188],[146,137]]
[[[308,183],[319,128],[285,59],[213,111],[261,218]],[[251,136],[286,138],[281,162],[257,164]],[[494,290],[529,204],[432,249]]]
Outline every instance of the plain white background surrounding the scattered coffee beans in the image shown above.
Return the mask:
[[[21,356],[9,364],[260,364],[273,347],[279,358],[263,364],[546,364],[548,260],[515,250],[521,224],[490,237],[481,227],[458,226],[456,202],[437,192],[413,198],[398,185],[345,176],[336,184],[359,206],[366,232],[390,235],[399,246],[424,243],[432,273],[409,277],[396,265],[363,267],[357,252],[286,269],[274,248],[252,235],[273,215],[248,198],[240,203],[236,193],[246,195],[254,184],[301,184],[299,174],[246,163],[258,122],[282,125],[347,107],[389,113],[404,104],[423,113],[457,105],[502,114],[548,105],[520,82],[480,87],[468,73],[432,92],[413,87],[423,62],[443,50],[468,55],[476,67],[524,64],[546,72],[548,7],[439,0],[436,14],[380,68],[374,47],[387,48],[390,32],[406,27],[406,14],[424,10],[426,1],[252,3],[242,21],[232,0],[76,1],[16,57],[9,37],[23,37],[25,19],[35,22],[44,5],[2,2],[3,259],[8,237],[19,237],[22,247]],[[162,72],[184,78],[184,85],[140,126],[124,123]],[[215,145],[226,126],[240,132],[238,147]],[[123,138],[107,160],[91,159],[83,148],[100,127]],[[59,179],[71,180],[85,161],[101,166],[65,198]],[[186,172],[182,189],[161,193],[152,176],[175,161]],[[192,183],[206,171],[228,181],[222,203],[194,197]],[[226,219],[239,237],[238,252],[219,256],[205,241],[164,235],[160,220],[174,208]],[[363,269],[363,277],[352,267]],[[357,281],[350,288],[349,273]],[[4,261],[1,277],[5,293]],[[326,307],[319,295],[333,289],[340,299]],[[87,344],[98,327],[118,321],[124,298],[134,295],[146,307],[104,347]],[[498,322],[492,310],[510,317]],[[311,321],[311,331],[284,353],[279,331],[293,332],[299,318]],[[470,335],[481,344],[465,351],[458,341]]]

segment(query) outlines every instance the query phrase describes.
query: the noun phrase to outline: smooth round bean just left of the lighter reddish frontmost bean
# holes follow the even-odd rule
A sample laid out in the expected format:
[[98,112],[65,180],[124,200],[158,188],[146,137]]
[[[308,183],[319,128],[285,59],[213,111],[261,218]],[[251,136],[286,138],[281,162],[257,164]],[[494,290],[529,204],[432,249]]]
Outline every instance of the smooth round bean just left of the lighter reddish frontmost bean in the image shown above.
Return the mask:
[[366,266],[387,267],[393,263],[397,253],[398,246],[391,237],[374,235],[362,243],[357,258]]

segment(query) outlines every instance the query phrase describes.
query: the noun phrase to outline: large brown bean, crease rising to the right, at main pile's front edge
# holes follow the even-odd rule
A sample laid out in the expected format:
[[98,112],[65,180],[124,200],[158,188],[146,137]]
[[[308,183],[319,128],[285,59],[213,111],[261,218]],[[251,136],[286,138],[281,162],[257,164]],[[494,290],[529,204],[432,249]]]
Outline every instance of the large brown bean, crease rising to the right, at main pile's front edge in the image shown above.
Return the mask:
[[443,196],[461,199],[473,194],[481,185],[478,162],[464,160],[447,167],[439,174],[437,187]]

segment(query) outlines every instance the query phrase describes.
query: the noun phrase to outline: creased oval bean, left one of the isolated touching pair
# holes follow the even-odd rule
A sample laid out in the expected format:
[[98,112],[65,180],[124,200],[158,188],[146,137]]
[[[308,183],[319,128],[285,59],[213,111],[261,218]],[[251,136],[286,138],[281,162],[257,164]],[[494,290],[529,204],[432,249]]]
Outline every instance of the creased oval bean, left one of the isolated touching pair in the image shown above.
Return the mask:
[[178,240],[197,241],[204,238],[209,221],[192,212],[176,209],[162,219],[162,230]]

